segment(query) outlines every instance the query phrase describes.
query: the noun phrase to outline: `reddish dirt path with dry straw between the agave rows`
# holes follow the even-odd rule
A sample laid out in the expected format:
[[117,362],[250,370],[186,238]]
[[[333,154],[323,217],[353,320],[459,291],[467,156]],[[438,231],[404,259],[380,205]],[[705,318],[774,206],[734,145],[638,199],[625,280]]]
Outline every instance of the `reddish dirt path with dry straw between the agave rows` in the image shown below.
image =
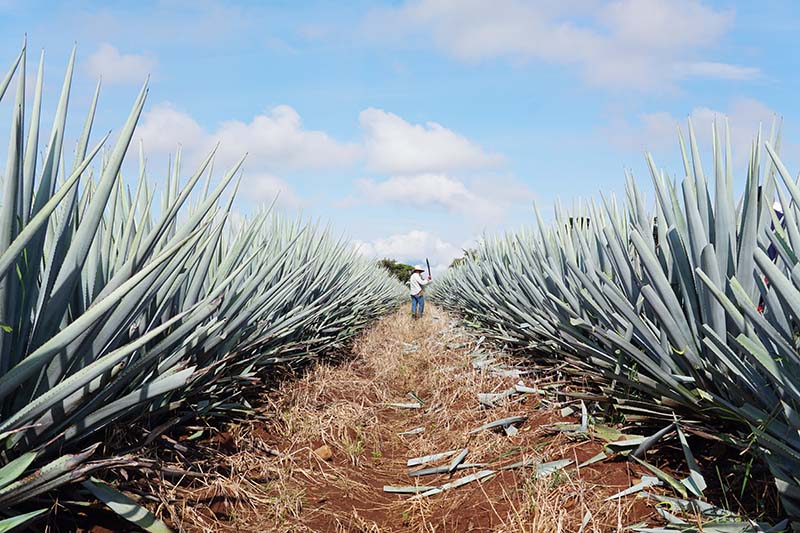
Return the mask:
[[[166,514],[188,531],[240,532],[566,532],[584,518],[583,531],[605,532],[645,518],[651,508],[639,500],[603,501],[641,472],[626,462],[576,469],[601,444],[545,427],[578,421],[560,416],[563,404],[538,394],[479,403],[479,394],[546,380],[498,372],[508,358],[476,349],[477,341],[435,308],[418,322],[405,312],[384,319],[359,339],[352,359],[286,382],[267,397],[261,420],[218,436],[218,472],[195,488],[172,489],[168,496],[182,503]],[[419,409],[390,405],[418,401]],[[511,416],[527,417],[516,435],[502,428],[469,434]],[[416,428],[424,432],[402,435]],[[464,448],[464,463],[482,466],[408,475],[409,458]],[[556,460],[573,464],[536,478],[536,463]],[[533,466],[500,470],[519,461]],[[383,490],[441,486],[487,469],[498,473],[427,497]]]

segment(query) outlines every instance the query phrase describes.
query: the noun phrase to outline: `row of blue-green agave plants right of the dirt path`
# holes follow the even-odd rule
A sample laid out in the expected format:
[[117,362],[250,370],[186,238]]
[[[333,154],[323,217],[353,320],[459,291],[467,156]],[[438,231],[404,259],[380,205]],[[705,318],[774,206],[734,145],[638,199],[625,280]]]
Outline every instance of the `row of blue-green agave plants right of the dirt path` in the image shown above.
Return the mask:
[[780,130],[750,147],[734,196],[727,122],[704,169],[689,124],[682,179],[646,156],[654,200],[629,174],[603,196],[487,237],[432,296],[540,361],[601,384],[629,420],[672,420],[756,451],[800,517],[800,186]]

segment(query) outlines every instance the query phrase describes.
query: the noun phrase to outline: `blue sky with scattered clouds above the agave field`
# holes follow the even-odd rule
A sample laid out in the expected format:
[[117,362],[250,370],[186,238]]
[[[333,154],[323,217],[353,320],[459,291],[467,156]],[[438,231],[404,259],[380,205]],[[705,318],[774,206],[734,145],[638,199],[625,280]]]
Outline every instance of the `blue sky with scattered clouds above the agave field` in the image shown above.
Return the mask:
[[645,151],[682,178],[689,118],[706,149],[728,119],[737,183],[778,120],[796,171],[798,30],[791,0],[0,0],[0,70],[27,36],[32,78],[43,49],[48,117],[77,46],[73,144],[98,80],[96,138],[149,78],[135,139],[154,183],[178,146],[187,177],[214,146],[220,175],[246,153],[241,214],[278,195],[365,255],[436,273],[534,223],[534,202],[548,217],[620,196],[626,169],[650,190]]

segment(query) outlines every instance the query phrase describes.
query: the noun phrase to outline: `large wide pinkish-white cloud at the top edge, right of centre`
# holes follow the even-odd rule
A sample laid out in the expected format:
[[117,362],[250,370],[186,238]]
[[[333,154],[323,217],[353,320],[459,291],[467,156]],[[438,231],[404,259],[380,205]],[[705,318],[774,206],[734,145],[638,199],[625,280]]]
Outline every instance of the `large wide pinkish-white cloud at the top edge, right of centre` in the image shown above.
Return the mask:
[[757,76],[754,68],[698,59],[733,20],[732,11],[701,0],[414,0],[375,11],[366,24],[381,40],[429,35],[465,61],[544,61],[573,66],[595,85],[664,89],[686,77]]

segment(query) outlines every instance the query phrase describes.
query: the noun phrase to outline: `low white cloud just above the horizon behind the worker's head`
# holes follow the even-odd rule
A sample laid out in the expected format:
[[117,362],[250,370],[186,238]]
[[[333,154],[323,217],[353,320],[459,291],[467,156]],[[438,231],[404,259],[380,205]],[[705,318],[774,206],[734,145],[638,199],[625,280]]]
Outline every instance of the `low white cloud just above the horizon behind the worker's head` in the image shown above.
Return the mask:
[[413,230],[373,241],[354,240],[353,246],[363,255],[374,259],[388,257],[405,263],[431,262],[434,275],[443,272],[463,249],[427,231]]

